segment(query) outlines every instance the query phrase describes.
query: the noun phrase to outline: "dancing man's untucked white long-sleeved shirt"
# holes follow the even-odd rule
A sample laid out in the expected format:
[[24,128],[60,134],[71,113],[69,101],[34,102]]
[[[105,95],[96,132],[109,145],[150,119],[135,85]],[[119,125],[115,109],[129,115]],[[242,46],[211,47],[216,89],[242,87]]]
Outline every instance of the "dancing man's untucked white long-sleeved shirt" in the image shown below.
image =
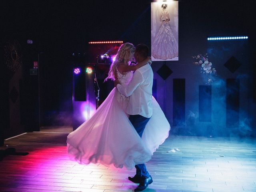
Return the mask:
[[130,83],[125,86],[117,84],[116,88],[124,96],[129,97],[126,112],[130,115],[152,116],[153,71],[150,64],[138,68]]

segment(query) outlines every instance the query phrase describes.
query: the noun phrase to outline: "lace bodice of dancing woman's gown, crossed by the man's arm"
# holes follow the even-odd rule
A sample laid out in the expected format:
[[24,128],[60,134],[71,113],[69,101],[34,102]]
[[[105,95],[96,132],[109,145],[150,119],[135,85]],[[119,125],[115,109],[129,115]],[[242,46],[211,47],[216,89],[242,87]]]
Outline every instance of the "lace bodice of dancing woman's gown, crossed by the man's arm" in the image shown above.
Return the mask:
[[[126,74],[121,74],[118,69],[116,69],[117,77],[121,85],[128,85],[130,80],[132,80],[133,73],[131,71],[126,72]],[[118,97],[117,100],[122,106],[122,109],[126,111],[126,108],[128,106],[129,97],[124,96],[119,91],[117,91]]]

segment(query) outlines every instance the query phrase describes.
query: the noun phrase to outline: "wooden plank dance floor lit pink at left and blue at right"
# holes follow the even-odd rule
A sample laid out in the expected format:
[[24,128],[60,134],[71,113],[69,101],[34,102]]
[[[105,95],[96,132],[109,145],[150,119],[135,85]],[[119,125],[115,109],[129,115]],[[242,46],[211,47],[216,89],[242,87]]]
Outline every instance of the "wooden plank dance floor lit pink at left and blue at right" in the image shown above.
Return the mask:
[[[127,179],[135,170],[70,161],[66,136],[72,129],[45,131],[49,129],[12,138],[0,147],[29,152],[0,161],[0,191],[125,192],[136,188]],[[170,136],[147,163],[154,182],[144,192],[255,192],[255,141]]]

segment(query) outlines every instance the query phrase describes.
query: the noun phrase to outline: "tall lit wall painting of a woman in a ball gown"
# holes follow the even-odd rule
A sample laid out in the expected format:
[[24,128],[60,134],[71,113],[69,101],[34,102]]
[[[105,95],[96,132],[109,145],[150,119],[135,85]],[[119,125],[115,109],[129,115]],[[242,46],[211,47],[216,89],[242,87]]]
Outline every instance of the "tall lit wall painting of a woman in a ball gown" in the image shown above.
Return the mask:
[[178,60],[178,1],[151,3],[151,58]]

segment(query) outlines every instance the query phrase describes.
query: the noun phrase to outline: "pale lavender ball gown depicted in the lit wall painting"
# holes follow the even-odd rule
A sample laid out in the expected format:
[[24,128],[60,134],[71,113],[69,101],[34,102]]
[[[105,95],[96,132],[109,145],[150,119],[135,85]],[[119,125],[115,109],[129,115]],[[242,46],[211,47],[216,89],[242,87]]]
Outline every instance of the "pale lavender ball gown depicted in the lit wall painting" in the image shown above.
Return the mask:
[[169,24],[166,10],[161,13],[161,24],[152,43],[152,56],[155,59],[171,59],[178,56],[178,42]]

